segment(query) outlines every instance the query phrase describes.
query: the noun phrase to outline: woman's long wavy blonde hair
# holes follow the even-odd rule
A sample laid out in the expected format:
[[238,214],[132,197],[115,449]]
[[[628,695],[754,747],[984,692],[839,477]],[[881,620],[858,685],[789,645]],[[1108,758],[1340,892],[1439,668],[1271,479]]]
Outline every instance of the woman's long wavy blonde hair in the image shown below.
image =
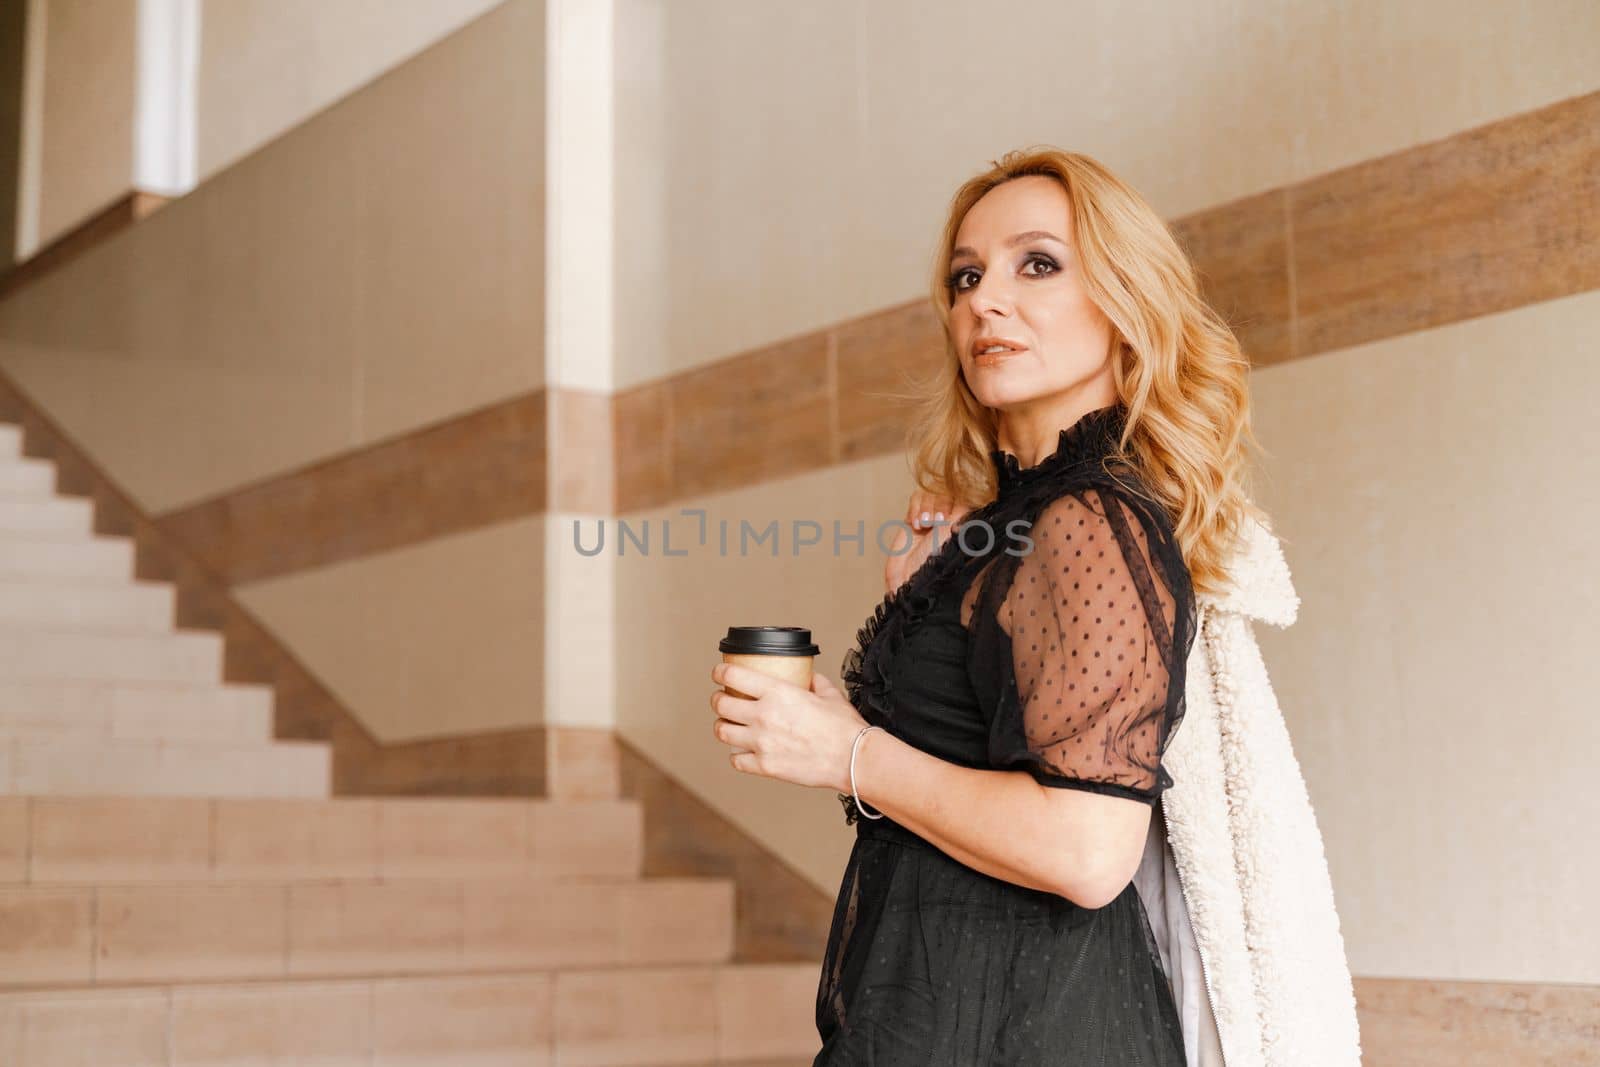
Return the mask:
[[1117,397],[1128,413],[1118,458],[1166,509],[1195,592],[1227,584],[1232,542],[1246,517],[1270,530],[1250,499],[1246,446],[1250,358],[1232,328],[1202,298],[1189,256],[1166,222],[1102,163],[1050,146],[1014,149],[962,184],[933,267],[931,298],[944,328],[944,360],[912,379],[907,432],[917,486],[979,507],[997,485],[989,453],[998,413],[973,397],[950,336],[950,250],[962,219],[990,189],[1014,178],[1054,178],[1072,205],[1072,240],[1083,285],[1112,323]]

